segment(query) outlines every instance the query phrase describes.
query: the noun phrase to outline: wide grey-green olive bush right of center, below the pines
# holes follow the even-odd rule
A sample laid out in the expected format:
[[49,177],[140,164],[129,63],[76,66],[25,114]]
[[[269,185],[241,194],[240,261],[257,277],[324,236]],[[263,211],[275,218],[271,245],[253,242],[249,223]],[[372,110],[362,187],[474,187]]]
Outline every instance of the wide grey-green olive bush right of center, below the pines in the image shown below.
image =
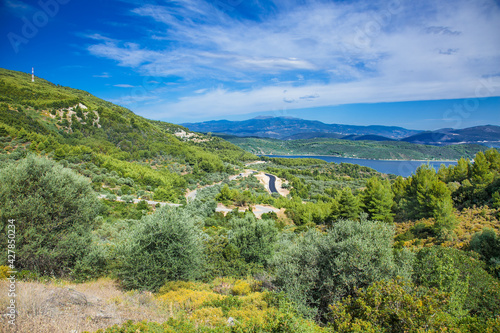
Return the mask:
[[274,283],[302,314],[322,319],[329,304],[392,277],[393,235],[386,223],[342,220],[327,233],[312,229],[284,239],[272,260]]

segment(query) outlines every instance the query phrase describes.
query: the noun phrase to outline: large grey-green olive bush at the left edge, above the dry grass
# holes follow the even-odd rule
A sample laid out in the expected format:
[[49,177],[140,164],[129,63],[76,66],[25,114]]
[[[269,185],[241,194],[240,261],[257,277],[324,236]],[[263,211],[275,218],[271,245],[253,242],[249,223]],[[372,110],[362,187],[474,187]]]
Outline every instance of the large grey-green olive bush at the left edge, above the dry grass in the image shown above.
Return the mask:
[[[29,155],[0,170],[0,228],[16,226],[16,266],[44,274],[68,274],[88,253],[100,202],[87,178],[60,164]],[[7,248],[7,237],[0,240]],[[6,261],[7,252],[1,260]]]

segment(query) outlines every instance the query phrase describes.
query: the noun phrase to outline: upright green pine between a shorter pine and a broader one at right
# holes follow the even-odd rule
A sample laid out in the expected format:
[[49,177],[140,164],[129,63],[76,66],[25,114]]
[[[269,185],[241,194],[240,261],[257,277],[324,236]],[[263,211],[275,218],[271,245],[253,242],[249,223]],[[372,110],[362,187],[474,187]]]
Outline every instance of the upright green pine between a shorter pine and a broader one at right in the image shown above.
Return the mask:
[[387,181],[380,181],[377,177],[372,177],[366,183],[366,190],[363,194],[363,205],[372,220],[392,222],[394,214],[391,209],[394,205],[394,194]]

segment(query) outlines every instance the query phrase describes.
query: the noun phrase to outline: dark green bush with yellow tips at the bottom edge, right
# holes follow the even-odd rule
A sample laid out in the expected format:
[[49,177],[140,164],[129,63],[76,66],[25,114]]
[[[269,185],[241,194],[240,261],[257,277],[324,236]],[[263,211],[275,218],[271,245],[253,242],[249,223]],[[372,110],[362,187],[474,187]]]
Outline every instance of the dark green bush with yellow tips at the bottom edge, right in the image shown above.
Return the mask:
[[[330,307],[328,319],[335,332],[444,332],[457,320],[448,310],[449,296],[396,279],[375,282]],[[460,332],[460,331],[458,331]]]

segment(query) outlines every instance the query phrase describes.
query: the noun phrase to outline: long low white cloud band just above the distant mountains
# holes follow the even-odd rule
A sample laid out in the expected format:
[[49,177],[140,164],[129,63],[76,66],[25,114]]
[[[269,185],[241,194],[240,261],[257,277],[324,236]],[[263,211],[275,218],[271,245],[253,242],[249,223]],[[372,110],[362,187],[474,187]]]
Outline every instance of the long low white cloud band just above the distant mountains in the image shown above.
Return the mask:
[[[479,95],[478,95],[479,92]],[[500,78],[469,79],[443,86],[441,82],[380,85],[376,80],[307,87],[264,87],[251,91],[215,89],[203,95],[181,98],[179,101],[150,108],[141,114],[154,118],[219,117],[260,111],[279,111],[355,103],[402,102],[455,98],[476,98],[495,92],[500,95]]]

